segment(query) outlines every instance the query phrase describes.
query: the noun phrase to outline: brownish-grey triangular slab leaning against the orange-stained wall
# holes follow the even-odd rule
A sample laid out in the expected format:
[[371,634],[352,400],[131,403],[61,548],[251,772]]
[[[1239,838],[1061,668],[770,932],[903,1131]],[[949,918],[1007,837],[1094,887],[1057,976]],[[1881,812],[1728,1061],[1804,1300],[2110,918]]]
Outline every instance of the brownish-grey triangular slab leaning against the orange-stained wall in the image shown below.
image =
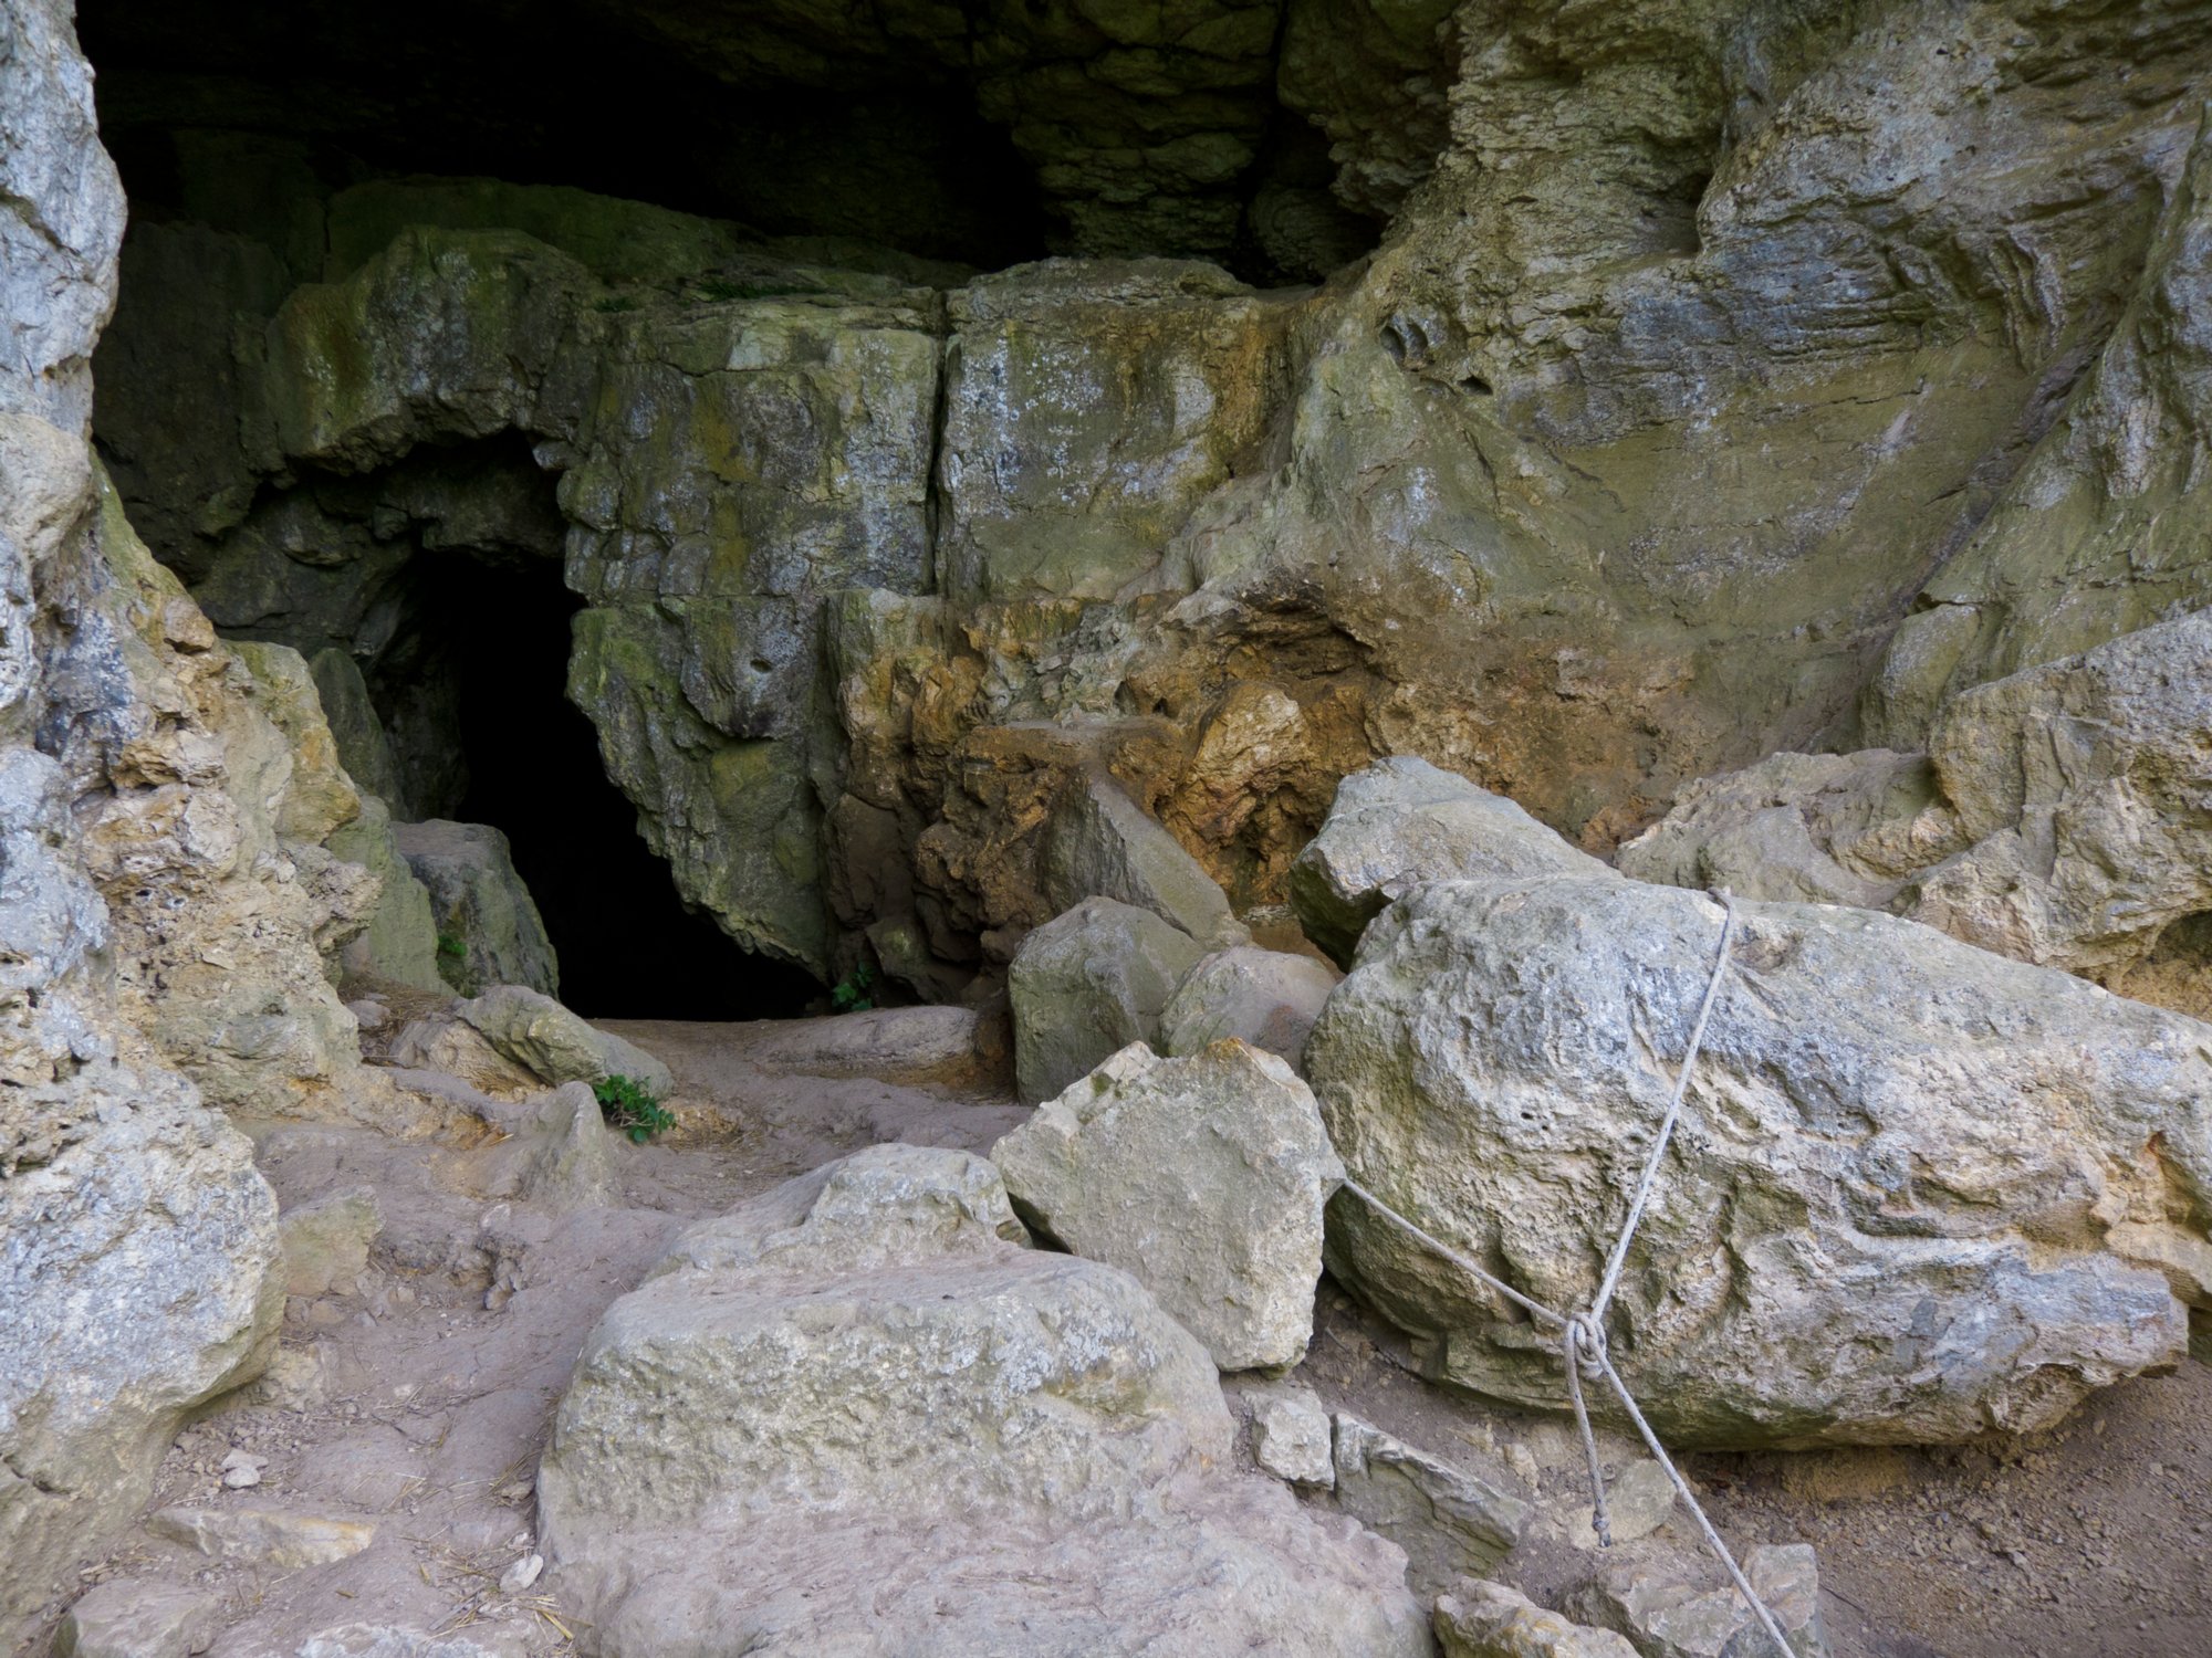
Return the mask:
[[1206,867],[1113,778],[1079,778],[1062,796],[1042,851],[1042,889],[1055,911],[1113,898],[1152,911],[1199,944],[1223,948],[1252,937]]

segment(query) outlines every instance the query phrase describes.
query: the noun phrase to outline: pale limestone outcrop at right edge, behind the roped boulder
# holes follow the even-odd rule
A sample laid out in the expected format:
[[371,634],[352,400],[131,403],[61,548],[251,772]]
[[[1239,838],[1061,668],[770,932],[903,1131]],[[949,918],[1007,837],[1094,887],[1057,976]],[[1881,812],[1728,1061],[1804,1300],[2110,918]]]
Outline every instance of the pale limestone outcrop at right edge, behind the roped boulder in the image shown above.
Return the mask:
[[2199,610],[1951,696],[1927,756],[1770,756],[1686,789],[1619,867],[1891,909],[2208,1012],[2208,661]]

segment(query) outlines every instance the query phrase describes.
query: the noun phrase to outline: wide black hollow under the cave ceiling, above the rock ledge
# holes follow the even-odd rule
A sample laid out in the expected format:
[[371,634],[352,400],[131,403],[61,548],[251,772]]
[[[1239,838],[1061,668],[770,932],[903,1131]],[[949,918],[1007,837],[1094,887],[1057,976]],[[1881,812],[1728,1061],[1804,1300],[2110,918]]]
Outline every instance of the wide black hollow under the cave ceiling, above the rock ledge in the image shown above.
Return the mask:
[[[84,0],[102,139],[137,217],[243,230],[380,177],[575,186],[1000,267],[1044,210],[1002,126],[927,66],[752,84],[593,0]],[[743,31],[723,18],[721,29]],[[230,223],[223,223],[230,221]]]

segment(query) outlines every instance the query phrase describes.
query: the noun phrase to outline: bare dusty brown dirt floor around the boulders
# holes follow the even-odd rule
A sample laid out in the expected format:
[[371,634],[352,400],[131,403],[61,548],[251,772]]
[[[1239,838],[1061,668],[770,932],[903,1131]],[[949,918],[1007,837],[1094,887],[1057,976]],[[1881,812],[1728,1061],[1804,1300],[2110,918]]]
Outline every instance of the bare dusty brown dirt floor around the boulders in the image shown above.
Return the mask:
[[[82,1583],[188,1583],[219,1598],[215,1658],[296,1654],[332,1625],[465,1631],[493,1654],[584,1636],[551,1583],[502,1589],[533,1550],[531,1481],[577,1349],[686,1225],[878,1141],[987,1152],[1026,1112],[956,1081],[803,1070],[810,1030],[608,1021],[668,1061],[677,1127],[624,1156],[624,1205],[557,1214],[491,1198],[465,1138],[248,1123],[281,1203],[369,1187],[383,1236],[343,1293],[285,1309],[263,1384],[208,1408],[161,1463],[164,1505],[274,1508],[374,1523],[352,1559],[210,1561],[137,1530]],[[796,1041],[794,1041],[796,1039]],[[779,1057],[779,1048],[783,1050]],[[796,1054],[796,1063],[794,1061]],[[1579,1450],[1418,1379],[1396,1333],[1323,1284],[1301,1366],[1327,1404],[1431,1452],[1517,1479],[1544,1517],[1513,1556],[1542,1594],[1575,1561]],[[223,1459],[265,1459],[226,1490]],[[2057,1433],[1964,1450],[1692,1457],[1739,1545],[1809,1541],[1838,1658],[2197,1658],[2212,1645],[2199,1561],[2212,1505],[2212,1368],[2099,1395]],[[53,1612],[60,1616],[64,1601]]]

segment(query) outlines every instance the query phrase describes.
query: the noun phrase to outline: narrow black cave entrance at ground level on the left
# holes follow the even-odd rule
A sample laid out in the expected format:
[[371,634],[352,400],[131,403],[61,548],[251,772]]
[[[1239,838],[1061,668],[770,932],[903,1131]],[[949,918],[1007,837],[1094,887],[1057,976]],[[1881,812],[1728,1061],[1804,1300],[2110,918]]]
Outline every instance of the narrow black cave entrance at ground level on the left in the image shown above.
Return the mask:
[[637,809],[566,696],[582,601],[560,566],[418,559],[420,615],[438,617],[467,783],[465,822],[500,829],[560,957],[562,1001],[586,1019],[783,1019],[821,986],[741,948],[677,895],[637,833]]

